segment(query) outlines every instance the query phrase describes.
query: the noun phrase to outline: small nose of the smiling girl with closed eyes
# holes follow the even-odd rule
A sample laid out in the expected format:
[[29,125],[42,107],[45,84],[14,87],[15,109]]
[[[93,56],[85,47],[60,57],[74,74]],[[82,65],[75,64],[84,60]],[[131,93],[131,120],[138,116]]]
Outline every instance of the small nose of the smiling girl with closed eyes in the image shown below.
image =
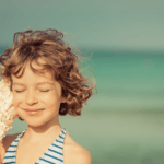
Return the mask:
[[27,91],[25,102],[30,106],[38,102],[37,94],[35,93],[35,91]]

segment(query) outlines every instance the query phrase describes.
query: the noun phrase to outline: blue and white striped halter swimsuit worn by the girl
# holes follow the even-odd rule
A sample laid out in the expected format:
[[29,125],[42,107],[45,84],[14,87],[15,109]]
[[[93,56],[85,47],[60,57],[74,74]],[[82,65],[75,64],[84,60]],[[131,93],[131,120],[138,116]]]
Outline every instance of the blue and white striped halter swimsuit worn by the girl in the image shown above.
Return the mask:
[[[27,129],[27,128],[26,128]],[[25,129],[25,130],[26,130]],[[3,164],[15,164],[15,155],[16,149],[19,144],[20,138],[24,134],[22,131],[9,145],[5,156],[3,159]],[[48,148],[48,150],[43,154],[42,157],[38,159],[35,164],[63,164],[63,139],[66,136],[66,129],[62,128],[58,138],[54,141],[54,143]]]

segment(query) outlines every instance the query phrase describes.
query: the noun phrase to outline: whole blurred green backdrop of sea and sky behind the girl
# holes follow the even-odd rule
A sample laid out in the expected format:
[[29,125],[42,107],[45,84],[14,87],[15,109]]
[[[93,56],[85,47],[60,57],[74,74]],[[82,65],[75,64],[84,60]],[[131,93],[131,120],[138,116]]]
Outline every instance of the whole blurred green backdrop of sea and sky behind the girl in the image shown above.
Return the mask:
[[[0,2],[0,54],[15,32],[57,28],[87,57],[83,71],[95,78],[97,94],[82,116],[60,122],[93,164],[163,164],[163,0]],[[7,134],[26,127],[16,118]]]

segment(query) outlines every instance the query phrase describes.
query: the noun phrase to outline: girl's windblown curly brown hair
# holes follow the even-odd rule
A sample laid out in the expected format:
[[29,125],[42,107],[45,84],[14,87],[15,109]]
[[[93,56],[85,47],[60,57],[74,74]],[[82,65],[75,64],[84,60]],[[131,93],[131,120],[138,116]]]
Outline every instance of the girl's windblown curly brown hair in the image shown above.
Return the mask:
[[[11,74],[21,78],[27,62],[32,71],[37,74],[44,74],[42,70],[49,70],[60,83],[61,95],[67,99],[66,103],[60,104],[59,115],[80,116],[82,104],[93,94],[95,82],[89,83],[90,78],[82,75],[78,67],[80,56],[71,52],[71,48],[62,38],[63,33],[51,28],[15,33],[12,47],[0,56],[0,75],[11,82],[12,92]],[[39,63],[39,58],[46,63]],[[33,68],[33,61],[43,69]],[[17,75],[21,70],[21,75]]]

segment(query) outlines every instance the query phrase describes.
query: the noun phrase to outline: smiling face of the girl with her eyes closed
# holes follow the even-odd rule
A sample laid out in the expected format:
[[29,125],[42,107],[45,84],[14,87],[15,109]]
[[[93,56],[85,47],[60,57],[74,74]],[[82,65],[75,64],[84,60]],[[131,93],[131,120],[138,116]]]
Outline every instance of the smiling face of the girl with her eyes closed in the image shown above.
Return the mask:
[[[36,69],[37,65],[33,65]],[[27,65],[19,79],[12,74],[13,106],[16,114],[32,127],[57,124],[61,97],[60,84],[49,72],[45,77],[35,74]],[[42,84],[43,83],[43,84]],[[30,115],[26,109],[42,109],[37,115]]]

